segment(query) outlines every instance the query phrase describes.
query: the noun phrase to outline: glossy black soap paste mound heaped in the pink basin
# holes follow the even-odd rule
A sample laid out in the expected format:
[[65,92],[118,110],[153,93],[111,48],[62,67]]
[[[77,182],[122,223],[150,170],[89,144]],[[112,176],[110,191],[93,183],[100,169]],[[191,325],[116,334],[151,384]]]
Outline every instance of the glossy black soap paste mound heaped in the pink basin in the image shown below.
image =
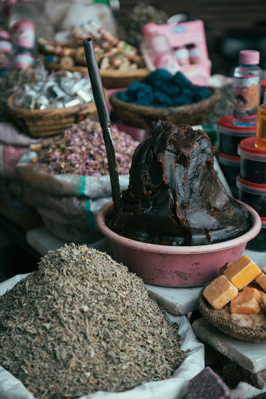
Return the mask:
[[252,215],[228,196],[213,168],[216,152],[203,130],[153,122],[133,154],[129,187],[108,227],[159,245],[205,245],[246,233]]

